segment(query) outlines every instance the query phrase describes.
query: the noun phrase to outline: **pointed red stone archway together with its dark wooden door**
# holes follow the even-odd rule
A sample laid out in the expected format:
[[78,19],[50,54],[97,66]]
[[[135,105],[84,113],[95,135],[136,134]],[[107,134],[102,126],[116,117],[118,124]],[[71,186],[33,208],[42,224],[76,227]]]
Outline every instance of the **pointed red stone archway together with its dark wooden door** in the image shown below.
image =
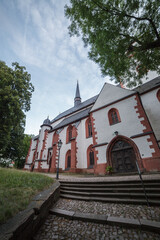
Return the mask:
[[143,169],[138,148],[129,138],[115,137],[108,146],[107,155],[109,165],[116,173],[137,172],[136,161]]

